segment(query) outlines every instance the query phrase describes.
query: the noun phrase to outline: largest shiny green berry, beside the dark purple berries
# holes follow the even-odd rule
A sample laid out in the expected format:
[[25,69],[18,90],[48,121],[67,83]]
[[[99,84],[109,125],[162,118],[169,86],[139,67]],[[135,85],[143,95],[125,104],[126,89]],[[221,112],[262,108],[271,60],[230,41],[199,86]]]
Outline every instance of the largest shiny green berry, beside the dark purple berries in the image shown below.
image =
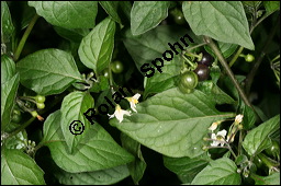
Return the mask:
[[180,84],[182,88],[192,90],[198,85],[198,74],[193,71],[187,71],[180,77]]

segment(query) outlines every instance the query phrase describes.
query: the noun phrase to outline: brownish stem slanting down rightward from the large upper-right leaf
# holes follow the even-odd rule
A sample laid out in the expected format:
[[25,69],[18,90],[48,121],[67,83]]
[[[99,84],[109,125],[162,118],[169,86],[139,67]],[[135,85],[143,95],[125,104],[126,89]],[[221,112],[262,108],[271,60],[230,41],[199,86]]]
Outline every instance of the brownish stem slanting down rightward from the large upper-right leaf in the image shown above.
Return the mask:
[[[224,67],[227,75],[231,78],[232,82],[234,83],[235,88],[237,89],[239,95],[241,96],[243,101],[245,102],[246,105],[248,105],[249,107],[252,108],[250,102],[248,101],[246,94],[244,93],[244,91],[241,90],[239,83],[237,82],[237,80],[235,79],[233,71],[231,70],[231,68],[228,67],[226,60],[224,59],[222,53],[220,51],[220,49],[217,48],[217,46],[215,45],[215,43],[212,40],[212,38],[204,36],[204,39],[206,40],[207,45],[212,48],[212,50],[215,53],[215,55],[217,56],[221,65]],[[252,108],[254,109],[254,108]]]

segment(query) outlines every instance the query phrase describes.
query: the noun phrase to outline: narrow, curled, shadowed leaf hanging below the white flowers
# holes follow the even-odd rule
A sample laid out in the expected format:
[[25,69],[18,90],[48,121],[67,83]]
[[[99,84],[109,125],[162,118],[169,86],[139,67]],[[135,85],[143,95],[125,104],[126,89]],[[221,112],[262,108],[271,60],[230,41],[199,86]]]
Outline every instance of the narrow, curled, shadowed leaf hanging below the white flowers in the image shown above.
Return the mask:
[[135,156],[135,161],[128,163],[127,167],[134,184],[138,185],[138,182],[143,178],[146,168],[146,162],[140,151],[140,144],[123,132],[121,133],[121,141],[122,146]]

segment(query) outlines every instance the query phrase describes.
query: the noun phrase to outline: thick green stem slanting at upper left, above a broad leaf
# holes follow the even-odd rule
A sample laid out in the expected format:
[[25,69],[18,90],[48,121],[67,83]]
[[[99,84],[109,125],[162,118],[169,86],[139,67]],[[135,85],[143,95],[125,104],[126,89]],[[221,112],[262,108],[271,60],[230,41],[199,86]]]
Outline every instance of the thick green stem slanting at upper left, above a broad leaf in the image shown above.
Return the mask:
[[40,16],[38,16],[37,14],[35,14],[35,15],[33,16],[33,19],[31,20],[31,22],[30,22],[27,28],[25,30],[25,32],[24,32],[24,34],[23,34],[23,36],[22,36],[22,39],[20,40],[20,43],[19,43],[19,45],[18,45],[18,47],[16,47],[16,50],[15,50],[15,53],[14,53],[14,58],[13,58],[14,61],[16,61],[16,60],[20,58],[21,53],[22,53],[22,49],[23,49],[23,47],[24,47],[24,44],[25,44],[25,42],[26,42],[29,35],[31,34],[31,31],[32,31],[32,28],[33,28],[33,26],[34,26],[34,24],[36,23],[36,21],[37,21],[38,18],[40,18]]

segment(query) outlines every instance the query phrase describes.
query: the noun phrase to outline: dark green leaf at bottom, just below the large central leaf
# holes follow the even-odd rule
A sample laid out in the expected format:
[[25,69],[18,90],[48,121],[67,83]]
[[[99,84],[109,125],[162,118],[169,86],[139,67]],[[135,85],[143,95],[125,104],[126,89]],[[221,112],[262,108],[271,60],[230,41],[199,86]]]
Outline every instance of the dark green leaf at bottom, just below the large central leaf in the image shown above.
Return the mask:
[[[189,181],[191,182],[195,175],[203,170],[207,163],[211,161],[211,159],[206,155],[206,153],[195,156],[193,159],[190,159],[188,156],[183,158],[170,158],[170,156],[164,156],[164,165],[181,177],[189,177]],[[190,183],[189,182],[189,183]],[[184,183],[188,183],[187,181]]]

